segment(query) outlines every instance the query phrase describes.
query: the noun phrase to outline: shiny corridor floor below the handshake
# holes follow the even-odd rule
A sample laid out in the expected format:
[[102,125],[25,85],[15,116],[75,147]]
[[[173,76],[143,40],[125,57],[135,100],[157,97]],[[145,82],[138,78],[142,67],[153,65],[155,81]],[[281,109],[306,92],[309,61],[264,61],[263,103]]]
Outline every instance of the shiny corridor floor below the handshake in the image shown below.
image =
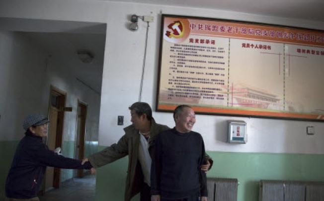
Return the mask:
[[64,182],[59,189],[51,190],[40,201],[94,201],[95,176],[87,175]]

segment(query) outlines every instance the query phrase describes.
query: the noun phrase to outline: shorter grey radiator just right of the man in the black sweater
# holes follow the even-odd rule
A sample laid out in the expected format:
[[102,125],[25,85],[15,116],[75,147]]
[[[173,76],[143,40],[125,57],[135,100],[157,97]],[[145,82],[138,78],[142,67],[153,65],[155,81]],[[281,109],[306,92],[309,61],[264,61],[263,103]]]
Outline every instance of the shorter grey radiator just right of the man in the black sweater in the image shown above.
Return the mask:
[[208,201],[237,201],[238,180],[207,178]]

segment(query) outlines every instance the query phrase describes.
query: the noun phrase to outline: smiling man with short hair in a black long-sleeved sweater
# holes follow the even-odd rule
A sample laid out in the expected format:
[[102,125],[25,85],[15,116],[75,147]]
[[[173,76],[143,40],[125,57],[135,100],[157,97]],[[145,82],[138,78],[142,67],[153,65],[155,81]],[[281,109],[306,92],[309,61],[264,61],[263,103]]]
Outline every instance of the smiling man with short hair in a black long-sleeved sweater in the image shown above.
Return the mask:
[[191,131],[195,112],[179,105],[173,112],[175,127],[157,136],[151,166],[151,201],[207,201],[205,146]]

